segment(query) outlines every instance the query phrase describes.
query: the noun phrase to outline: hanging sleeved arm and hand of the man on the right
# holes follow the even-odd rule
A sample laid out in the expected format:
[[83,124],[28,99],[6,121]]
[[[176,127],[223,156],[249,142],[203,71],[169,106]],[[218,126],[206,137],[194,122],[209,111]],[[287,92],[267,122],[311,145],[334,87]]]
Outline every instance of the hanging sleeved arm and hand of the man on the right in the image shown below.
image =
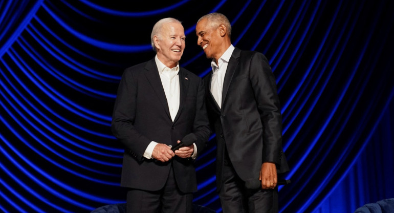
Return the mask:
[[264,189],[274,188],[277,183],[276,164],[280,164],[282,147],[282,121],[276,81],[267,58],[262,54],[253,55],[251,69],[250,79],[264,133],[261,186]]

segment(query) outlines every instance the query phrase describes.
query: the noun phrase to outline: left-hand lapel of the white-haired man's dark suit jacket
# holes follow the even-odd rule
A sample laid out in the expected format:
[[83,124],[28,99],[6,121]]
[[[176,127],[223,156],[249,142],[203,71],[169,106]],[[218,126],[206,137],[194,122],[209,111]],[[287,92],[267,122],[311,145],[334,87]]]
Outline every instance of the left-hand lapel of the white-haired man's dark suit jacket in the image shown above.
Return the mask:
[[152,60],[146,63],[145,69],[146,69],[145,76],[148,79],[150,86],[155,91],[157,98],[159,99],[160,103],[163,105],[163,108],[168,115],[168,118],[171,120],[170,111],[168,109],[167,98],[164,93],[163,84],[160,79],[155,58],[153,58]]

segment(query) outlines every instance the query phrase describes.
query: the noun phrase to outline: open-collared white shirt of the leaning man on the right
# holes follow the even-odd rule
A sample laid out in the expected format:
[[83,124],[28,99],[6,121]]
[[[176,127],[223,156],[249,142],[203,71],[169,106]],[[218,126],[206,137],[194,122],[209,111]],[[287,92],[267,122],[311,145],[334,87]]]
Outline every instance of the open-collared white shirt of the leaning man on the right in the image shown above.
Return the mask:
[[222,92],[223,92],[223,82],[224,77],[226,75],[226,70],[228,66],[228,62],[231,58],[231,55],[234,51],[234,46],[230,45],[230,47],[223,53],[223,55],[218,60],[218,65],[215,62],[215,59],[212,59],[211,67],[212,67],[212,79],[211,79],[211,93],[215,98],[217,105],[222,109]]

